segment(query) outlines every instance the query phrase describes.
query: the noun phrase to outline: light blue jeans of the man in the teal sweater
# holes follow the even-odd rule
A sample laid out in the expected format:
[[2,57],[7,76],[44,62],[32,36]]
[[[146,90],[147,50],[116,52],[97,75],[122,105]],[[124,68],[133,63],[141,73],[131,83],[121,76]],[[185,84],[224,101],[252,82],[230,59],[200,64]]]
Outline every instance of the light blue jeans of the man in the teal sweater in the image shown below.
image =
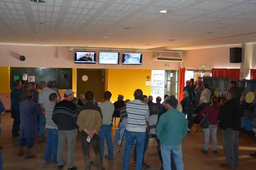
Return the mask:
[[176,169],[184,170],[181,144],[179,146],[166,146],[161,144],[161,153],[164,170],[171,170],[171,154],[173,154]]

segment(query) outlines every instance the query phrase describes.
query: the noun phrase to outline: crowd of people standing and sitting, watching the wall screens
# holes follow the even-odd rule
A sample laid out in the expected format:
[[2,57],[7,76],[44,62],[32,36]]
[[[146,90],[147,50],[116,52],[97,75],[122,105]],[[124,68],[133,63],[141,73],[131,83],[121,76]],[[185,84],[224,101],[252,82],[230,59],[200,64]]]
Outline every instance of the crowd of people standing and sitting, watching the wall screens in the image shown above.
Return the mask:
[[[111,92],[105,91],[104,102],[98,104],[92,91],[75,98],[74,92],[68,89],[61,100],[59,90],[54,88],[52,81],[41,81],[39,88],[41,91],[38,93],[36,83],[22,84],[22,81],[16,80],[11,90],[11,117],[14,119],[12,137],[19,138],[18,156],[35,157],[32,148],[39,131],[39,142],[46,143],[45,164],[53,162],[58,165],[59,170],[63,169],[67,140],[68,170],[76,170],[78,167],[74,165],[74,152],[78,131],[86,170],[91,165],[97,165],[98,170],[105,169],[103,158],[114,160],[113,146],[120,146],[122,140],[125,140],[122,169],[128,170],[132,150],[135,170],[148,169],[150,165],[145,163],[144,154],[151,137],[157,139],[162,164],[160,169],[183,170],[182,140],[187,133],[191,133],[193,124],[199,124],[202,117],[208,115],[209,127],[204,129],[205,148],[201,152],[208,154],[211,132],[213,153],[217,154],[216,133],[220,126],[227,160],[226,164],[220,166],[239,167],[238,136],[242,108],[238,98],[240,99],[241,93],[233,81],[230,82],[226,99],[222,99],[220,104],[218,98],[211,94],[208,84],[202,84],[201,80],[194,82],[193,79],[186,81],[181,102],[175,96],[165,95],[163,102],[161,97],[157,97],[154,103],[152,96],[147,97],[141,89],[137,89],[134,91],[134,100],[124,101],[124,96],[119,95],[114,103],[110,102]],[[0,102],[0,112],[4,112],[2,108]],[[120,122],[113,144],[111,129],[114,117],[119,117]],[[104,155],[105,139],[107,155]],[[96,155],[95,161],[90,160],[90,143]],[[1,165],[0,154],[0,167]]]

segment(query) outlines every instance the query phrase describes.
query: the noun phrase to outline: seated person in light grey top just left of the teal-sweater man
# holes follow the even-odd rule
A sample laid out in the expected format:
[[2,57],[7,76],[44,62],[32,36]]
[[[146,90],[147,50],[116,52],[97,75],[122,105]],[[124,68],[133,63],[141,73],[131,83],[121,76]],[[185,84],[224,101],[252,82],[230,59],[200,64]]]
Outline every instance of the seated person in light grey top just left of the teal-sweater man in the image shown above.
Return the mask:
[[149,131],[151,133],[151,138],[156,138],[156,125],[158,121],[158,109],[156,106],[153,106],[150,109],[150,116],[149,116]]

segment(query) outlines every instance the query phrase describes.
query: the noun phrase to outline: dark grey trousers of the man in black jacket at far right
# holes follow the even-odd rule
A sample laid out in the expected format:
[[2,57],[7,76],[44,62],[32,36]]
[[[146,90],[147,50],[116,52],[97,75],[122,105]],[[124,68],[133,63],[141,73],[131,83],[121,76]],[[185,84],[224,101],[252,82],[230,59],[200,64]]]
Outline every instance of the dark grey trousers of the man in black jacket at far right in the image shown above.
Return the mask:
[[222,129],[221,132],[227,164],[231,167],[239,166],[239,131],[227,128]]

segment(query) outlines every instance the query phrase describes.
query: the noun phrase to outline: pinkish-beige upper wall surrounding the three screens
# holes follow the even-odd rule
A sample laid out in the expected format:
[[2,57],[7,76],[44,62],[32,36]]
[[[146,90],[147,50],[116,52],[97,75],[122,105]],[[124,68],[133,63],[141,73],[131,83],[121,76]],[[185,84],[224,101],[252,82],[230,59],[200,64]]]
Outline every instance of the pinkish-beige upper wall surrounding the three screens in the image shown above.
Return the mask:
[[[79,50],[77,50],[79,51]],[[80,50],[81,51],[81,50]],[[89,50],[87,50],[89,51]],[[96,64],[75,64],[74,51],[69,47],[46,47],[46,46],[24,46],[24,45],[0,45],[0,66],[11,67],[53,67],[53,68],[89,68],[89,69],[158,69],[158,70],[179,70],[180,62],[152,61],[151,52],[143,53],[141,66],[122,65],[122,53],[120,52],[119,65],[99,65],[99,52],[104,50],[91,50],[97,52]],[[105,52],[109,52],[105,50]],[[116,51],[111,51],[116,52]],[[133,53],[132,51],[129,51]],[[20,61],[20,56],[26,57]],[[170,67],[164,67],[170,65]]]

